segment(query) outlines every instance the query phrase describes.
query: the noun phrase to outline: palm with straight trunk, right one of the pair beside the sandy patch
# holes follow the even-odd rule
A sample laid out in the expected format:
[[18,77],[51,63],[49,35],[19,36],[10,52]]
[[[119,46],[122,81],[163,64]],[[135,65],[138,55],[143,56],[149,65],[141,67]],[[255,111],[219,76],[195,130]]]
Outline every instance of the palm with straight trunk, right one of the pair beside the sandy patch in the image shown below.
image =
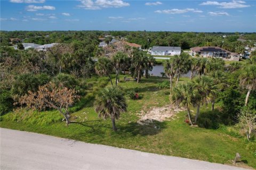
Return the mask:
[[200,110],[201,104],[204,104],[204,103],[207,103],[207,101],[210,101],[210,96],[215,95],[217,91],[216,91],[216,86],[214,86],[213,84],[213,79],[205,75],[201,77],[197,77],[193,82],[198,94],[195,100],[195,103],[197,106],[196,117],[195,117],[195,123],[196,123],[197,118],[199,116],[199,110]]

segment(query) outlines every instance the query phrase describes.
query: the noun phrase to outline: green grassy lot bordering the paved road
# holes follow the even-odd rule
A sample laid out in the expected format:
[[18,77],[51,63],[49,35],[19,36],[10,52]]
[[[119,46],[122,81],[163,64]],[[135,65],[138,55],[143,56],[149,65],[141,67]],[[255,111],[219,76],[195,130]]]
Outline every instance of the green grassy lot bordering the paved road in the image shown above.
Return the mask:
[[[137,87],[139,95],[143,95],[143,98],[131,100],[126,97],[127,112],[116,121],[117,132],[111,130],[111,121],[98,118],[93,108],[94,97],[99,89],[110,86],[106,78],[87,80],[91,84],[87,95],[70,109],[73,112],[71,119],[77,123],[71,123],[67,127],[61,122],[62,117],[57,111],[21,110],[2,116],[1,127],[221,164],[231,164],[236,152],[239,152],[242,163],[256,168],[255,157],[247,150],[246,140],[230,135],[232,134],[228,131],[230,127],[222,126],[218,130],[190,127],[184,122],[185,112],[178,113],[172,121],[139,125],[137,121],[140,111],[170,104],[169,94],[156,88],[157,82],[166,79],[150,77],[143,78],[141,83],[135,83],[123,82],[123,77],[124,75],[121,75],[121,82],[118,85],[124,91]],[[181,81],[187,80],[181,78]],[[202,112],[207,112],[209,109],[210,106],[204,106]],[[155,125],[159,129],[155,129]]]

